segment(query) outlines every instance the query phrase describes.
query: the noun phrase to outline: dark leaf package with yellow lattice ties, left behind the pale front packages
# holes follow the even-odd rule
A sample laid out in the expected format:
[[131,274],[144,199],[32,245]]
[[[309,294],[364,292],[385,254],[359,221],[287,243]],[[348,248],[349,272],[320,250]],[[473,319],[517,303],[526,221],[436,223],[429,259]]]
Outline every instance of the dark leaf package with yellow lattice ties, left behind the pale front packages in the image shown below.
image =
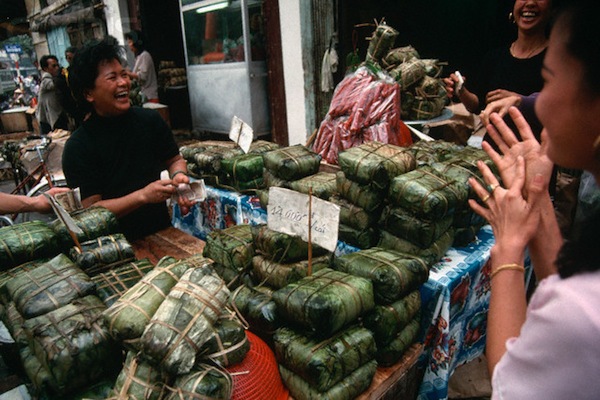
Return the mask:
[[112,306],[126,291],[154,269],[149,259],[125,263],[92,277],[96,294],[107,306]]

